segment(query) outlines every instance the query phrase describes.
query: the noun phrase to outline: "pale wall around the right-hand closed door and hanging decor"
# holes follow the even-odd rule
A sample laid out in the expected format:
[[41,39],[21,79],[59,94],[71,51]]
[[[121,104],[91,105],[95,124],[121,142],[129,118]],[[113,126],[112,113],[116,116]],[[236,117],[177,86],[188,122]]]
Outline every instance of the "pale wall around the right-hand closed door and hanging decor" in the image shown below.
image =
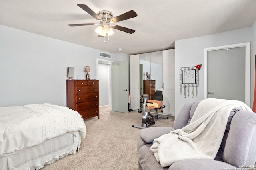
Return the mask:
[[[252,27],[246,27],[213,35],[175,41],[175,117],[186,102],[203,100],[204,98],[204,65],[199,70],[198,96],[195,98],[192,98],[191,95],[187,98],[184,98],[184,95],[180,95],[180,67],[193,67],[197,64],[203,64],[204,48],[252,42],[252,30]],[[251,70],[255,69],[251,68]]]

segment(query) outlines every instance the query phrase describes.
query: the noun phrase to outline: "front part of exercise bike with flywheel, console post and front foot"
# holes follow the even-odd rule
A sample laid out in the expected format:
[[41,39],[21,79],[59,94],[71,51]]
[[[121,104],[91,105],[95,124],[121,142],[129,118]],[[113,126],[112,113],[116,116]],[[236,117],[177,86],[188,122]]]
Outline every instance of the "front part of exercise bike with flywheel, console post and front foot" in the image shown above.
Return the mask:
[[138,109],[138,112],[140,112],[140,113],[142,112],[142,124],[141,124],[141,126],[132,125],[132,127],[136,127],[139,129],[145,129],[149,125],[155,124],[154,116],[151,115],[150,112],[145,111],[145,107],[147,106],[147,103],[152,104],[153,102],[148,102],[148,94],[142,94],[142,98],[144,100],[143,111],[141,111],[141,109]]

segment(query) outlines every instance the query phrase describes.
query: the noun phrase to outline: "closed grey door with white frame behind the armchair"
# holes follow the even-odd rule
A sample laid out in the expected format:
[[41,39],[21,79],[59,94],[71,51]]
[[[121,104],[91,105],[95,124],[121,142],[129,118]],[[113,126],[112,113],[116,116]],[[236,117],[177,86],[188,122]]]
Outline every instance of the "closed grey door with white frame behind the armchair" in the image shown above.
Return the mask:
[[205,98],[240,100],[250,106],[250,54],[246,57],[246,53],[246,45],[206,51]]

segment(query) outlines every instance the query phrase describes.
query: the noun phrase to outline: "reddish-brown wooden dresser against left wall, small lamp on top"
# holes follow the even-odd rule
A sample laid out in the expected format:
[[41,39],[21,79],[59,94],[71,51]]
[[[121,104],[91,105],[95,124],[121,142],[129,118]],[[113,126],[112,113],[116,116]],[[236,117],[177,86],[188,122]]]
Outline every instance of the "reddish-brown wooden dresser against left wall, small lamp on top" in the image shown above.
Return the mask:
[[99,80],[66,80],[67,107],[78,111],[83,119],[99,114]]

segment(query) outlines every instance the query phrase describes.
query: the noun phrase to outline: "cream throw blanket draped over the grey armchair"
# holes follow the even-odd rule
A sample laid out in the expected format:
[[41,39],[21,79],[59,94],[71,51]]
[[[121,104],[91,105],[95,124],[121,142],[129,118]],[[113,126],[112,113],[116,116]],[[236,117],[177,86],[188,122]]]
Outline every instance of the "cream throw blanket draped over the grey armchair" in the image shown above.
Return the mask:
[[230,111],[235,107],[252,111],[237,100],[202,100],[189,125],[154,140],[151,151],[156,160],[162,167],[186,159],[213,160],[222,142]]

